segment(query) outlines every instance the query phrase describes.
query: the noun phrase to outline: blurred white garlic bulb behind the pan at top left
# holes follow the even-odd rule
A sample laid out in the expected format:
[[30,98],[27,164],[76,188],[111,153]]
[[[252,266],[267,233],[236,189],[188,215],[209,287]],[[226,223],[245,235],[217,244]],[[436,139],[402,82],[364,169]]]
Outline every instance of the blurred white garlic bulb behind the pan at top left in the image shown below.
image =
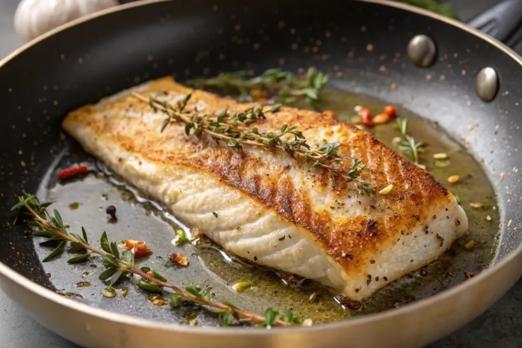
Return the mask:
[[73,19],[118,4],[118,0],[22,0],[15,13],[15,29],[29,41]]

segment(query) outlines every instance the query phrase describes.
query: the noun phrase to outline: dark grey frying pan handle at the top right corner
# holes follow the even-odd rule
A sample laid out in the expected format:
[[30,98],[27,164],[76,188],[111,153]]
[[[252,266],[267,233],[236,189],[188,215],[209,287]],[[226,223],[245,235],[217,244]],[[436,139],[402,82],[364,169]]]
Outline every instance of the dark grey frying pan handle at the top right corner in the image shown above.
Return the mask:
[[522,38],[522,0],[503,0],[472,18],[468,25],[513,47]]

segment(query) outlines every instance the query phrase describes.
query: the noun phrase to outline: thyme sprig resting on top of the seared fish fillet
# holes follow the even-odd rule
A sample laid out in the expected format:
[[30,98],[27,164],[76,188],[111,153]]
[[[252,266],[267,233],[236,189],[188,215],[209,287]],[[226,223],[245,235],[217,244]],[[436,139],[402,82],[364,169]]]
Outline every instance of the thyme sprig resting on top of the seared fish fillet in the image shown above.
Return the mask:
[[[147,98],[142,94],[133,92],[132,95],[137,99],[147,102],[153,110],[160,110],[167,115],[161,125],[163,131],[172,121],[185,124],[185,133],[191,132],[197,137],[204,133],[216,140],[226,140],[229,147],[243,149],[243,145],[264,147],[290,153],[300,162],[311,163],[314,168],[322,167],[331,175],[341,177],[345,182],[354,182],[359,190],[367,194],[373,194],[374,190],[369,183],[360,179],[361,172],[366,170],[366,166],[360,159],[353,159],[351,164],[345,165],[349,159],[343,157],[339,152],[342,143],[326,142],[312,148],[307,143],[301,130],[297,126],[283,125],[277,131],[262,132],[257,127],[248,128],[259,119],[265,119],[265,108],[262,105],[253,104],[244,111],[229,112],[223,110],[219,115],[193,114],[185,110],[191,94],[188,94],[183,102],[178,103],[177,107],[158,100],[155,97]],[[269,107],[267,111],[278,112],[280,104]]]

